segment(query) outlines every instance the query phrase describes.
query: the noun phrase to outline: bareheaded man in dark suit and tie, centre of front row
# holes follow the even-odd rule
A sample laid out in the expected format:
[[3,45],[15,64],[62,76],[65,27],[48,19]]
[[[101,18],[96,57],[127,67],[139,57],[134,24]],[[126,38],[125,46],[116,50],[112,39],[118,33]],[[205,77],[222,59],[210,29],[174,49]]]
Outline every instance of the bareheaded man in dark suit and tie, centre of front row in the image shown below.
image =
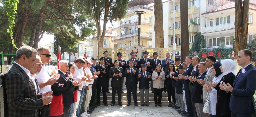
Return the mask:
[[134,101],[134,105],[135,106],[139,106],[137,104],[137,84],[139,81],[138,75],[138,69],[133,67],[134,62],[133,61],[129,61],[129,68],[125,69],[124,72],[124,77],[126,77],[126,81],[125,81],[125,85],[127,88],[127,105],[126,106],[130,106],[131,105],[131,92],[132,92],[132,96],[133,96],[133,101]]

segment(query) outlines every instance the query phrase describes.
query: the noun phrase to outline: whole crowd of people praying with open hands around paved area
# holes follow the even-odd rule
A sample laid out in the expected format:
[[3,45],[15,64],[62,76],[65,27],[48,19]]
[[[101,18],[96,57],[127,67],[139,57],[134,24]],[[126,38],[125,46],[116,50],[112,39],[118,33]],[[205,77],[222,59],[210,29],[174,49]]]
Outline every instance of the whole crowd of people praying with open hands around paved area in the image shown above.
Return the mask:
[[[16,53],[16,60],[5,73],[5,92],[7,95],[7,116],[27,117],[87,117],[101,105],[107,104],[109,80],[111,78],[112,101],[115,96],[118,105],[121,93],[124,93],[124,77],[127,89],[127,105],[131,105],[131,93],[135,106],[137,103],[137,85],[139,82],[140,106],[149,106],[149,89],[154,93],[155,106],[162,106],[162,93],[168,94],[168,107],[175,108],[182,116],[198,117],[245,117],[255,113],[253,95],[256,89],[256,69],[253,67],[252,52],[238,52],[237,62],[242,67],[235,74],[233,60],[216,62],[214,56],[207,56],[200,62],[198,56],[186,56],[170,59],[149,59],[149,53],[143,52],[143,58],[135,59],[136,53],[130,53],[131,59],[123,60],[122,53],[112,61],[108,51],[104,57],[76,57],[74,64],[66,60],[59,61],[57,74],[49,76],[45,64],[50,62],[50,48],[22,46]],[[140,72],[139,72],[140,69]],[[95,96],[97,102],[94,102]],[[144,101],[145,97],[145,101]],[[206,105],[208,104],[209,105]],[[210,106],[207,112],[203,109]]]

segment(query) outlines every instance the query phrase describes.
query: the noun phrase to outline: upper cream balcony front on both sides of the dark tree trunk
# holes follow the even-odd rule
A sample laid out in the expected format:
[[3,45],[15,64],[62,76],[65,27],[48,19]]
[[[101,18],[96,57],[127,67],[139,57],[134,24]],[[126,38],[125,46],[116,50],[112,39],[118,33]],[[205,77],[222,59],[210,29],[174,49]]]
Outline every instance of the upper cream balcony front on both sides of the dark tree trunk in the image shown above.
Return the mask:
[[[189,6],[188,7],[188,15],[190,14],[198,14],[198,7],[197,6]],[[181,17],[181,10],[175,10],[175,18]],[[173,11],[169,11],[169,19],[173,18]]]

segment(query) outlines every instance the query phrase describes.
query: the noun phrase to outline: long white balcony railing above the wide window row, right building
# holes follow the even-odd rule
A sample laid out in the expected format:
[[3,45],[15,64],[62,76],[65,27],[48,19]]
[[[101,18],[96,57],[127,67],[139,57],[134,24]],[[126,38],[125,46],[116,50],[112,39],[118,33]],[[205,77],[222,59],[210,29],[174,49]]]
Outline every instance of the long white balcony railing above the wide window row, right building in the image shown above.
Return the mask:
[[211,33],[211,32],[217,32],[217,31],[223,31],[223,30],[230,30],[235,29],[235,23],[226,23],[226,24],[220,24],[220,25],[213,25],[210,27],[203,27],[202,33]]

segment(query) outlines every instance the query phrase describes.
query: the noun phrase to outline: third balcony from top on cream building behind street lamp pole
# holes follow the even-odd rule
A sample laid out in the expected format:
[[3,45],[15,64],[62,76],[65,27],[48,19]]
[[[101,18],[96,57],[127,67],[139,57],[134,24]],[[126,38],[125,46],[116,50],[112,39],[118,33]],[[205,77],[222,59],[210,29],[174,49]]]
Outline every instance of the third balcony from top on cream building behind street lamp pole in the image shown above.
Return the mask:
[[[118,41],[133,39],[133,38],[138,38],[138,32],[125,34],[125,35],[114,36],[113,40],[111,40],[111,41],[112,42],[118,42]],[[141,38],[149,39],[149,33],[141,32]]]

